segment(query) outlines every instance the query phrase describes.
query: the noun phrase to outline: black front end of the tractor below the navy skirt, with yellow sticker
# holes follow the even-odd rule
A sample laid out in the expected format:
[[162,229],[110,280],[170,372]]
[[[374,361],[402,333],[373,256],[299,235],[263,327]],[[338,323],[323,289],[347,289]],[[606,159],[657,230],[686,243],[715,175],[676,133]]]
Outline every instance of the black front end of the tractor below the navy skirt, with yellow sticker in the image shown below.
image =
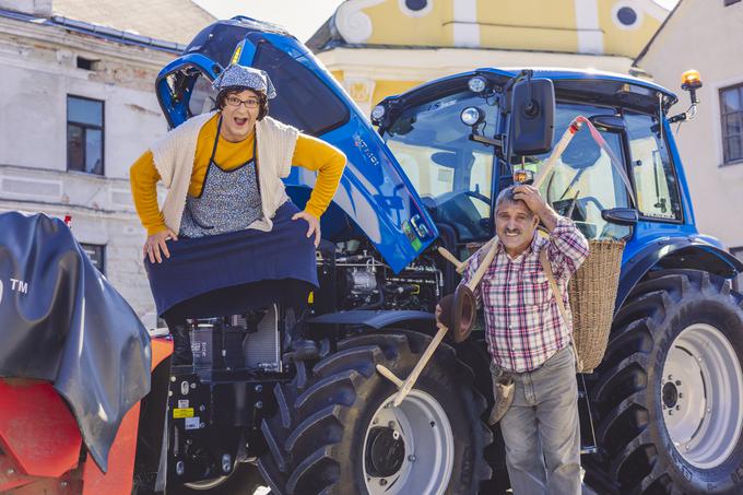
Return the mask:
[[282,322],[278,304],[187,320],[193,366],[174,366],[168,391],[170,481],[198,488],[264,450],[260,424],[284,372]]

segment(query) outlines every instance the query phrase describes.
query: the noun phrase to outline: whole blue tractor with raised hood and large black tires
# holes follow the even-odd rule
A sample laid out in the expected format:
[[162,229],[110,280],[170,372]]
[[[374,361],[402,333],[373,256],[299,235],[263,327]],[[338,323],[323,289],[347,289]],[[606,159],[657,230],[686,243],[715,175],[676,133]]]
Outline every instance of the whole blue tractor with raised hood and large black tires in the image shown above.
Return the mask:
[[[172,368],[167,448],[150,447],[150,465],[138,453],[141,480],[148,471],[162,479],[165,465],[168,491],[505,493],[499,431],[483,422],[492,391],[482,328],[462,343],[445,340],[397,408],[397,388],[376,366],[411,373],[435,333],[437,302],[458,283],[435,249],[463,259],[491,238],[495,197],[514,170],[539,173],[552,128],[556,140],[583,116],[621,158],[636,198],[582,133],[541,187],[589,239],[627,241],[608,352],[585,389],[586,480],[600,493],[743,492],[743,310],[730,284],[743,266],[695,226],[671,130],[685,114],[669,115],[673,93],[617,74],[488,68],[385,99],[375,129],[293,36],[234,17],[202,31],[161,72],[172,127],[213,108],[210,82],[231,62],[266,70],[279,95],[271,115],[349,158],[317,254],[320,357],[284,355],[276,306],[201,325],[222,329],[210,343],[223,355],[234,352],[235,329],[247,328],[235,344],[245,366],[215,358]],[[530,92],[549,82],[554,95],[532,129],[536,141],[547,138],[542,149],[517,144],[510,131],[520,82]],[[294,168],[294,202],[304,204],[314,181]],[[189,400],[197,421],[177,413]]]

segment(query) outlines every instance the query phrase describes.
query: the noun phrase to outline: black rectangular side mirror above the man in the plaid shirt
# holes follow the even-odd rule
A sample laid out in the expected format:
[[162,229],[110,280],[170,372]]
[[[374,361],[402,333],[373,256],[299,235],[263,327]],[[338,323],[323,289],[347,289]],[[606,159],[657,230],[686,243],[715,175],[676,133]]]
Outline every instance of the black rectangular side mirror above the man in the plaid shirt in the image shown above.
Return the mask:
[[511,92],[509,150],[532,156],[552,150],[555,133],[555,89],[549,79],[527,79]]

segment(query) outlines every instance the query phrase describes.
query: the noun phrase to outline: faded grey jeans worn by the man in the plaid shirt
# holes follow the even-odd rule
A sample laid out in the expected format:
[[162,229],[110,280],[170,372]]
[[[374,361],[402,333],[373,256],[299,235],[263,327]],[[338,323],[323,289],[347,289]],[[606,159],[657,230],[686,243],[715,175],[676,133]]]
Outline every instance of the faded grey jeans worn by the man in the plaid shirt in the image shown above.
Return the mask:
[[[493,368],[494,378],[502,373]],[[580,494],[580,425],[573,347],[530,373],[511,373],[514,403],[500,420],[515,495]]]

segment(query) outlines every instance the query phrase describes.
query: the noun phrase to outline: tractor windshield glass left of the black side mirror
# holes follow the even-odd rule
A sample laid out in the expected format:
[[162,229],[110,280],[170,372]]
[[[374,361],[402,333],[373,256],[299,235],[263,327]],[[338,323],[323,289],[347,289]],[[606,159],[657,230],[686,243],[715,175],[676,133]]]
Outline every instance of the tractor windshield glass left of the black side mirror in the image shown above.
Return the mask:
[[471,141],[461,111],[476,106],[493,134],[497,107],[471,92],[445,96],[403,111],[384,139],[435,222],[450,225],[459,241],[492,235],[493,148]]

